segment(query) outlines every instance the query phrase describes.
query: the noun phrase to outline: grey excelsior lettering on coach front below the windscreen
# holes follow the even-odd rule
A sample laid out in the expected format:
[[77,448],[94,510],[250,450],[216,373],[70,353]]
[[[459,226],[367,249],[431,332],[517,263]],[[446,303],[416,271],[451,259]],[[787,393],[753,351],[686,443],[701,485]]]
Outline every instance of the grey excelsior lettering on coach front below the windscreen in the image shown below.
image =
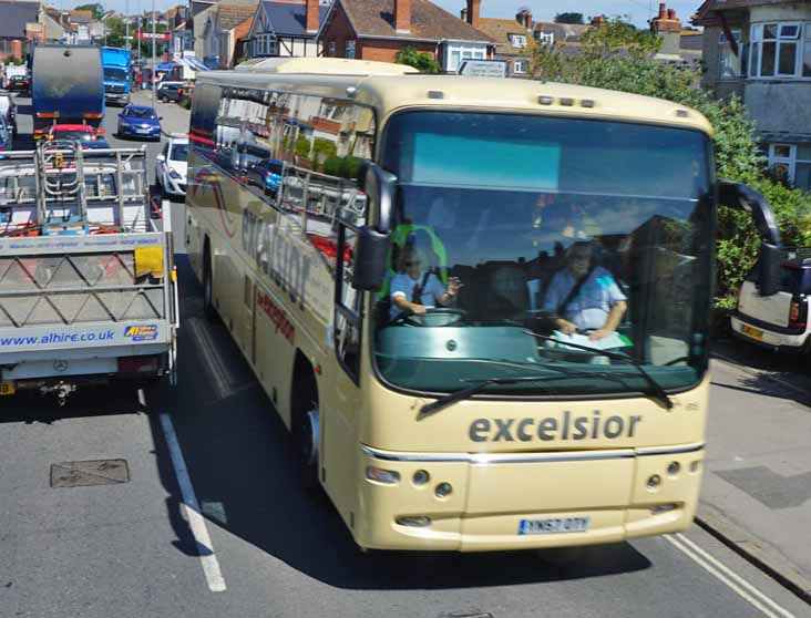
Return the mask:
[[563,419],[476,419],[470,424],[468,435],[473,442],[530,442],[537,437],[544,442],[554,440],[615,440],[634,437],[640,415],[602,418],[599,410],[592,416],[572,416],[565,411]]

